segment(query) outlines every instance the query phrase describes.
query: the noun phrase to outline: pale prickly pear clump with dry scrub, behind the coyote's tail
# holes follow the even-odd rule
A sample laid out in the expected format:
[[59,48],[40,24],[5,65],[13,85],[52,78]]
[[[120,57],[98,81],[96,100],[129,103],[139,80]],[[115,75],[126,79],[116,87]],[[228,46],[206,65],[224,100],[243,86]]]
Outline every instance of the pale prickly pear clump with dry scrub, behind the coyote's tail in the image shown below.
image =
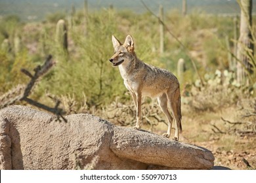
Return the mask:
[[222,107],[235,104],[241,97],[249,97],[251,91],[241,88],[236,82],[234,73],[219,70],[215,74],[205,75],[205,85],[196,80],[192,86],[187,86],[189,91],[184,96],[184,104],[196,111],[215,111]]

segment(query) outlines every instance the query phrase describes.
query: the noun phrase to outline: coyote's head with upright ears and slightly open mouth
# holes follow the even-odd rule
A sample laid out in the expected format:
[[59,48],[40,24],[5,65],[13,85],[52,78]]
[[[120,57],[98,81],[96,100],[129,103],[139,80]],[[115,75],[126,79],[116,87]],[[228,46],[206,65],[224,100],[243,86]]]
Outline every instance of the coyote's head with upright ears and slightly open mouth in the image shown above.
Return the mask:
[[131,35],[127,35],[125,42],[121,44],[114,35],[112,35],[112,42],[114,46],[114,56],[110,58],[110,62],[113,66],[120,65],[121,63],[125,63],[127,61],[131,61],[131,56],[134,51],[134,42]]

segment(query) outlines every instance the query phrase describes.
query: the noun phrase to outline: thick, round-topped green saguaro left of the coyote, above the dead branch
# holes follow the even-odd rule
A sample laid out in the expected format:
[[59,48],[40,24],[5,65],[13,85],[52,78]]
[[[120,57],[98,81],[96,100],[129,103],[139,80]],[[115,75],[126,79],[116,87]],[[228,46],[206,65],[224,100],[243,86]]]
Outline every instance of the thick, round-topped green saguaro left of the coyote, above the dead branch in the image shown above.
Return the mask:
[[64,20],[58,20],[56,25],[56,42],[64,52],[68,53],[68,29]]

